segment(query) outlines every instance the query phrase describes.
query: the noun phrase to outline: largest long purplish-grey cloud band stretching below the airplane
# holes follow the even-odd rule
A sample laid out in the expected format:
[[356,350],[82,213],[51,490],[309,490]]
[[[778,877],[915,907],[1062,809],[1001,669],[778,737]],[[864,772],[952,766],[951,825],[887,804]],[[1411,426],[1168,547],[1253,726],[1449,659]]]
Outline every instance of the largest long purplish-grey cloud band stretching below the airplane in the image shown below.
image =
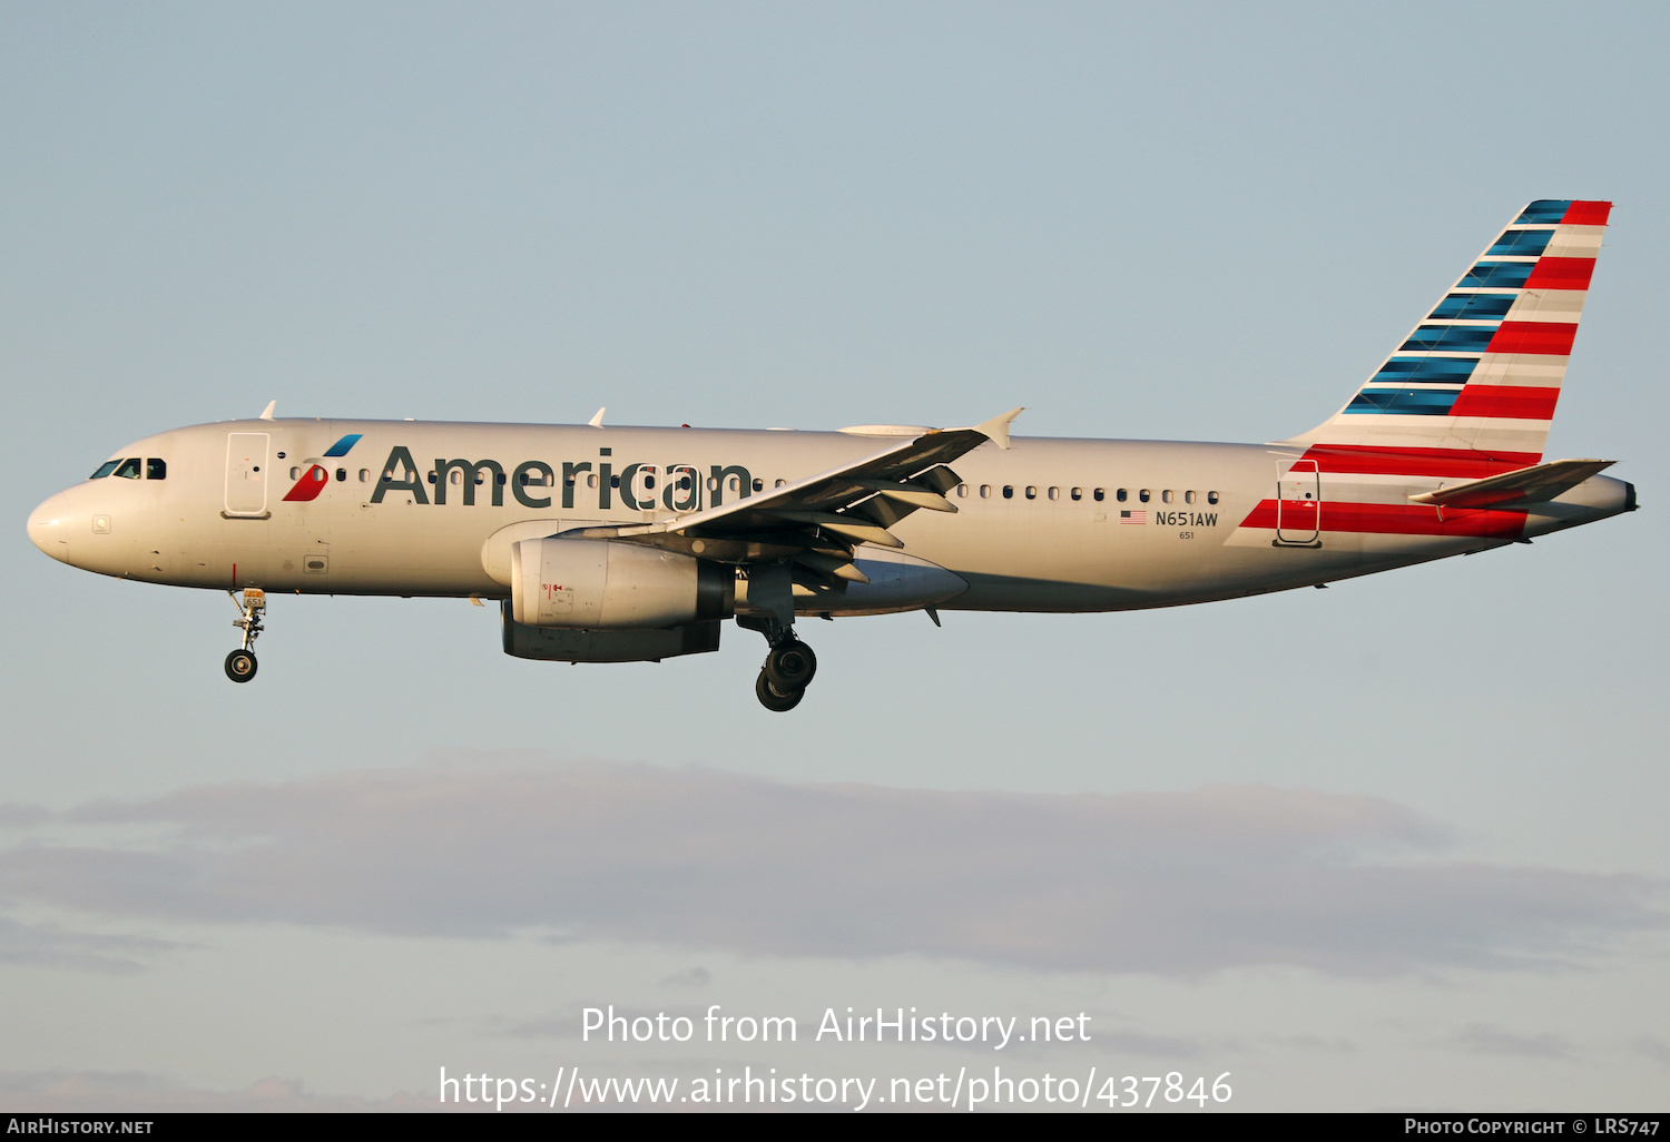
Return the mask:
[[112,917],[920,953],[1065,970],[1556,963],[1660,928],[1662,885],[1441,856],[1389,801],[1017,795],[558,765],[197,786],[80,806],[150,850],[0,850],[0,895]]

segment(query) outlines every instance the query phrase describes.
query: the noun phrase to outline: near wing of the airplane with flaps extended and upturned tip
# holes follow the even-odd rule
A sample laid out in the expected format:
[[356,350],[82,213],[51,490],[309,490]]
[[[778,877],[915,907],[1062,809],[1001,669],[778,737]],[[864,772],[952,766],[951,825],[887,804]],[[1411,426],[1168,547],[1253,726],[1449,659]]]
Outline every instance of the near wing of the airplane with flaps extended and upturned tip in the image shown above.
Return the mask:
[[795,559],[825,576],[863,581],[852,566],[853,544],[902,548],[890,526],[920,508],[957,511],[945,499],[960,483],[949,462],[987,441],[1009,447],[1009,422],[1019,414],[1012,409],[974,427],[932,429],[793,484],[666,523],[583,534],[608,531],[726,563]]

